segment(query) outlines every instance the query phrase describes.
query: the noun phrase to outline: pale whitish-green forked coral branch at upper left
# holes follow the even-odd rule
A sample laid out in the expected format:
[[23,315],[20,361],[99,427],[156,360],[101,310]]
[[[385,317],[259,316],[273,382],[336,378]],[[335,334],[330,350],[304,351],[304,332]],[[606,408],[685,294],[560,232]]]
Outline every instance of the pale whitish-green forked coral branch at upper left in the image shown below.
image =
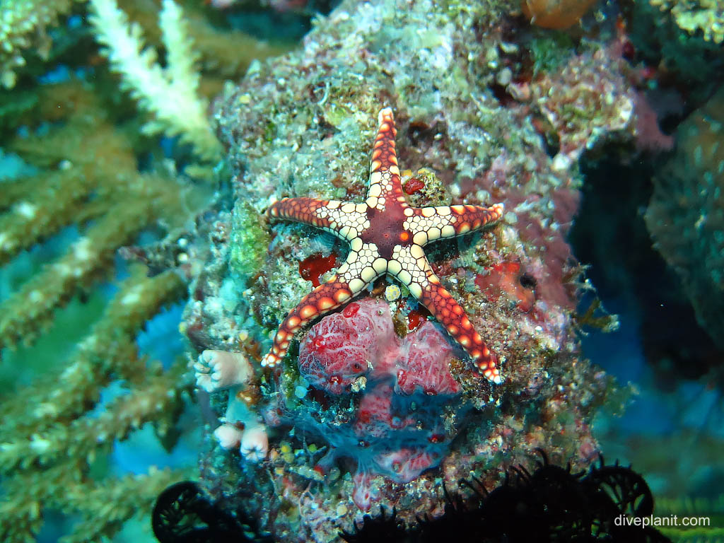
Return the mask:
[[138,104],[153,114],[144,126],[149,134],[165,132],[180,135],[205,159],[218,159],[221,146],[206,119],[206,104],[197,96],[199,75],[194,68],[198,59],[188,37],[180,7],[164,0],[159,18],[167,51],[167,67],[156,62],[156,52],[144,49],[138,24],[129,25],[114,0],[91,0],[94,14],[90,22],[98,41],[106,46],[114,70],[122,75],[122,84]]

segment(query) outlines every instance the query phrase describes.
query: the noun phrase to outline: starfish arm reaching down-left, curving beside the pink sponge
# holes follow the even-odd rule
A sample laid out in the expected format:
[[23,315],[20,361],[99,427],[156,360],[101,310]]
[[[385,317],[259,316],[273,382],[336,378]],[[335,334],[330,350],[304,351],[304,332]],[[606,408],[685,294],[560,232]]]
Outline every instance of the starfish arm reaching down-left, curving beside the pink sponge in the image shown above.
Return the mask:
[[287,354],[296,332],[313,319],[329,313],[358,295],[376,277],[379,277],[379,273],[371,267],[374,257],[366,257],[365,253],[366,251],[360,253],[350,251],[345,263],[337,269],[337,274],[312,290],[289,312],[287,318],[279,325],[271,350],[261,361],[262,366],[276,366]]

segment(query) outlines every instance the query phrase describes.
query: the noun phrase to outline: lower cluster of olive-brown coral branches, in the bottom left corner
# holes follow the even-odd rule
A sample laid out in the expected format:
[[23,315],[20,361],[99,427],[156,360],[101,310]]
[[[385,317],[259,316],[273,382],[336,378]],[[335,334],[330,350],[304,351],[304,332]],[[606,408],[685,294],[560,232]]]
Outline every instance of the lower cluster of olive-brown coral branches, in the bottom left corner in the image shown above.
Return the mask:
[[[156,363],[148,365],[138,356],[135,333],[161,306],[184,293],[184,283],[173,272],[149,279],[138,269],[64,365],[4,398],[2,541],[32,541],[46,508],[80,517],[66,542],[97,540],[113,534],[139,509],[149,510],[161,489],[184,476],[151,471],[125,479],[98,477],[115,439],[149,421],[160,434],[172,426],[169,413],[177,411],[174,405],[190,387],[185,363],[167,371]],[[127,383],[128,394],[100,415],[89,411],[101,390],[117,379]]]

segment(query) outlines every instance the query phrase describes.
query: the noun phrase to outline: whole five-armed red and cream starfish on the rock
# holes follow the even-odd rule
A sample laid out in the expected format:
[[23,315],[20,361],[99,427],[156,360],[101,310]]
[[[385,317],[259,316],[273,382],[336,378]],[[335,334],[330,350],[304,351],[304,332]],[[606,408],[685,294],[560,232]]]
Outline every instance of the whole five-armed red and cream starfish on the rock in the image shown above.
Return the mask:
[[341,306],[374,279],[387,274],[408,287],[432,316],[470,356],[489,381],[502,382],[497,357],[473,329],[465,310],[430,268],[423,247],[434,240],[479,230],[502,215],[502,204],[482,206],[408,206],[400,184],[392,109],[378,116],[372,149],[369,188],[363,203],[316,198],[284,198],[272,204],[271,219],[301,222],[331,232],[350,244],[337,273],[306,295],[279,325],[262,366],[276,366],[294,334],[316,317]]

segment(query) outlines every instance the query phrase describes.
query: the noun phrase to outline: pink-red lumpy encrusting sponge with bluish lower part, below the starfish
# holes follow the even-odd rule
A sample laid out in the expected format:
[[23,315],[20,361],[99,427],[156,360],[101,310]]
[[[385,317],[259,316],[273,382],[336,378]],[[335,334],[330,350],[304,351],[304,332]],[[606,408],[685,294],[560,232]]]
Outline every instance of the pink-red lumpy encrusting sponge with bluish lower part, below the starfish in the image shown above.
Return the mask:
[[361,509],[373,501],[373,473],[404,483],[443,458],[450,439],[442,406],[460,392],[450,374],[455,355],[463,353],[430,321],[397,337],[389,305],[372,299],[324,317],[301,342],[300,374],[311,387],[360,395],[350,424],[316,433],[330,445],[321,466],[338,456],[357,460],[354,500]]

